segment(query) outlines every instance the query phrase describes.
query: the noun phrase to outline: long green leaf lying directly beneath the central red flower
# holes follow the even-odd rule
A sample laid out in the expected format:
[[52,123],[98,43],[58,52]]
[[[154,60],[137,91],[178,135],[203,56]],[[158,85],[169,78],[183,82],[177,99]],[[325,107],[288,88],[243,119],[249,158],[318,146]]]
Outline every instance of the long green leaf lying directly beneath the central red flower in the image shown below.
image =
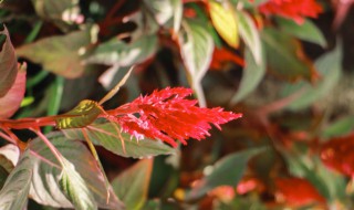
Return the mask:
[[[116,124],[118,130],[121,130],[119,125]],[[148,138],[144,139],[133,139],[133,137],[127,133],[121,133],[122,139],[117,134],[115,126],[112,123],[92,125],[85,128],[88,134],[88,139],[94,145],[103,146],[110,151],[132,158],[146,158],[157,155],[174,154],[175,149],[158,141]],[[63,130],[69,139],[81,139],[84,140],[81,129],[66,129]],[[125,151],[123,149],[122,140],[124,140]]]

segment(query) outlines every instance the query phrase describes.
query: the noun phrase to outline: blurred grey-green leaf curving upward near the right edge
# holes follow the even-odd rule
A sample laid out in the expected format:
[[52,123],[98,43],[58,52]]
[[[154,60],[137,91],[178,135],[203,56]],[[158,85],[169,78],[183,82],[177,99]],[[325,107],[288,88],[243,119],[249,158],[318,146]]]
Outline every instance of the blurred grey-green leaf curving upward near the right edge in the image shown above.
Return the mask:
[[289,104],[289,109],[302,109],[309,107],[315,101],[325,96],[341,78],[342,48],[339,45],[334,51],[322,55],[315,61],[315,69],[321,74],[321,81],[314,85],[301,82],[295,85],[287,84],[283,88],[283,95],[290,95],[300,90],[302,94],[294,102]]

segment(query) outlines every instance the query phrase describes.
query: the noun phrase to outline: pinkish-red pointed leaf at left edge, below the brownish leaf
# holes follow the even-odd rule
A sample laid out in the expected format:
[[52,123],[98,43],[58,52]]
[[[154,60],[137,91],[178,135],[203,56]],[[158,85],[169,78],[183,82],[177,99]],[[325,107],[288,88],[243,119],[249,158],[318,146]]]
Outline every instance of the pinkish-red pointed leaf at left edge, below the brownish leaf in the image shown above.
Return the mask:
[[0,98],[0,118],[11,117],[20,107],[25,91],[25,67],[23,64],[10,91]]

